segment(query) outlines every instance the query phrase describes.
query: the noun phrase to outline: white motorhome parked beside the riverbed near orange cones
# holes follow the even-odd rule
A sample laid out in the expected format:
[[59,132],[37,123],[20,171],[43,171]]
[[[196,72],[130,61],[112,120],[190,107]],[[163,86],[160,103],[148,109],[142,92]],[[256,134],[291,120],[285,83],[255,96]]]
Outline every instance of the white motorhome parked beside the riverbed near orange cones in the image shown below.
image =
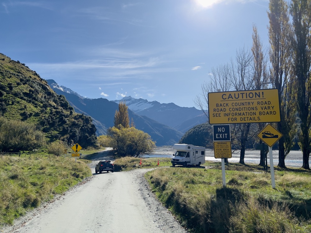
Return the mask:
[[197,165],[205,163],[205,147],[194,146],[192,144],[174,144],[174,150],[171,163],[173,167],[175,165],[182,165],[187,167],[188,165]]

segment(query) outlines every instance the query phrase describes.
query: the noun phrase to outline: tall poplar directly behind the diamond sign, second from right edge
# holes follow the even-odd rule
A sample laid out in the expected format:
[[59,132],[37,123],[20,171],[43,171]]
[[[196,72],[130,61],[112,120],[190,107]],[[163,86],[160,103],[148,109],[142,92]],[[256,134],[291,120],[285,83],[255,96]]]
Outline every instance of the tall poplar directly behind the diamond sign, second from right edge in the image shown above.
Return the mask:
[[278,167],[285,168],[285,157],[293,146],[296,134],[295,95],[293,75],[291,75],[292,47],[291,26],[288,6],[284,0],[270,0],[269,3],[269,43],[271,62],[271,83],[278,90],[281,121],[277,130],[283,134],[279,139]]

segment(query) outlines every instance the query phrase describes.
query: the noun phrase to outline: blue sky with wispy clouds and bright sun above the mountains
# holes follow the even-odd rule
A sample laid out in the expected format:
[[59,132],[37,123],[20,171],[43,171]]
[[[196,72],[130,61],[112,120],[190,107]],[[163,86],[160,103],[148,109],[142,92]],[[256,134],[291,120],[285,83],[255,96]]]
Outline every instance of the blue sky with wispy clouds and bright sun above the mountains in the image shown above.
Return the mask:
[[268,46],[268,0],[0,0],[0,53],[88,98],[194,107],[212,67]]

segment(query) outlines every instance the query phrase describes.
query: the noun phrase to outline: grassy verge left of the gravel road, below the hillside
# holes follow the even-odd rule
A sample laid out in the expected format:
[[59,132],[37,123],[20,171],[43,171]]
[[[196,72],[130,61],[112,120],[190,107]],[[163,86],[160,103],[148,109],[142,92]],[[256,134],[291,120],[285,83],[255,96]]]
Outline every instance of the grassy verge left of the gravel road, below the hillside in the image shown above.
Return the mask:
[[88,176],[91,170],[82,160],[3,156],[0,158],[0,225],[12,224],[27,210]]

